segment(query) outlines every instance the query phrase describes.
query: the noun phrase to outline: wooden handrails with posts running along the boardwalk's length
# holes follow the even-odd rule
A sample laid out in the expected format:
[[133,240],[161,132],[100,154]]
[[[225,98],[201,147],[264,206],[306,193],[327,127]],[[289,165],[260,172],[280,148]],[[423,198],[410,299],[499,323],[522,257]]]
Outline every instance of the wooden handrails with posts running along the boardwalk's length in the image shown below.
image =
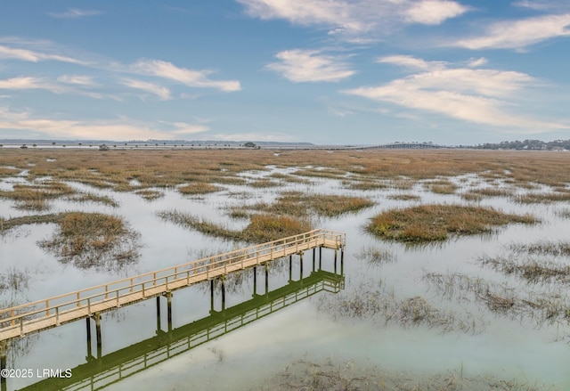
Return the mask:
[[[3,330],[20,328],[20,336],[24,335],[24,324],[41,322],[50,317],[55,318],[56,325],[60,324],[60,315],[78,308],[86,309],[86,316],[91,316],[92,305],[115,301],[120,306],[120,298],[129,294],[142,293],[142,299],[157,296],[150,293],[145,296],[145,290],[164,288],[160,292],[169,291],[169,284],[177,282],[175,289],[191,285],[191,277],[201,276],[200,281],[210,280],[227,273],[228,266],[239,265],[244,268],[244,262],[256,259],[256,265],[271,259],[285,257],[307,248],[316,248],[329,243],[330,247],[344,248],[346,234],[326,229],[316,229],[299,233],[279,240],[240,248],[212,257],[202,258],[181,265],[170,266],[157,271],[126,277],[117,281],[96,285],[86,289],[78,289],[69,293],[47,297],[23,305],[15,305],[0,309],[0,333]],[[280,255],[281,254],[281,255]],[[268,258],[266,258],[269,256]],[[265,258],[264,258],[265,257]],[[261,261],[260,261],[261,258]],[[205,274],[205,276],[204,276]],[[186,285],[180,285],[186,281]],[[44,314],[39,316],[39,314]]]

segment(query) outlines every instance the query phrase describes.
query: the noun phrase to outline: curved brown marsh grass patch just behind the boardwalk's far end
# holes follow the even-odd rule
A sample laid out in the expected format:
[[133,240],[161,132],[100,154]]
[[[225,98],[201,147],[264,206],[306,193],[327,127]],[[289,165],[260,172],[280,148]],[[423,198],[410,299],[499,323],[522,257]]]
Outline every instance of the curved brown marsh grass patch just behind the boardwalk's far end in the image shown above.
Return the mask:
[[279,240],[312,230],[311,224],[306,220],[289,216],[253,215],[250,216],[249,224],[245,229],[234,231],[220,224],[208,222],[177,210],[161,211],[157,215],[163,220],[207,235],[227,240],[242,240],[254,243]]

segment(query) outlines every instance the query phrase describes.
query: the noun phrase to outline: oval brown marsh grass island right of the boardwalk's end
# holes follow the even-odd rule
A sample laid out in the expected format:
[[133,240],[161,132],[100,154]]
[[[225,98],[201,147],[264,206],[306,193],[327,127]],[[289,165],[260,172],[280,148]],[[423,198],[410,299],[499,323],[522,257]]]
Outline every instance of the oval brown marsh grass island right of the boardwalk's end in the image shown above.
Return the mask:
[[493,208],[420,205],[390,209],[372,217],[367,230],[382,239],[404,242],[447,240],[449,235],[493,232],[510,223],[534,224],[533,216],[509,215]]

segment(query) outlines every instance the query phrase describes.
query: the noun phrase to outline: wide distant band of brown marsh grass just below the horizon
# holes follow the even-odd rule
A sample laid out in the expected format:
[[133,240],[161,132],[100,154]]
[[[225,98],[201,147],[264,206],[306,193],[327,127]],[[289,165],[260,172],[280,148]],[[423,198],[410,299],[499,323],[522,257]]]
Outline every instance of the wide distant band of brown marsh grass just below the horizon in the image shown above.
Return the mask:
[[[472,173],[518,187],[543,184],[566,189],[570,172],[560,167],[568,163],[570,156],[564,152],[466,150],[336,151],[334,156],[326,151],[5,150],[0,156],[3,175],[28,170],[30,181],[51,177],[53,181],[118,191],[171,188],[191,182],[243,184],[244,179],[237,175],[267,167],[304,167],[291,175],[303,181],[307,177],[349,181],[352,184],[344,184],[356,190],[384,186],[411,189],[419,180]],[[348,174],[352,174],[350,179]],[[137,186],[130,184],[134,179]],[[567,200],[564,194],[557,197]]]

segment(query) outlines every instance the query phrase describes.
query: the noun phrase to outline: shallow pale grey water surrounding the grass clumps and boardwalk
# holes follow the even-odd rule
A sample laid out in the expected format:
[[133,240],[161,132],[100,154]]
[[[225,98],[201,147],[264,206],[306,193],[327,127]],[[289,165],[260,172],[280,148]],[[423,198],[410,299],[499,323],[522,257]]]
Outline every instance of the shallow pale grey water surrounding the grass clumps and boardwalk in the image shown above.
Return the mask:
[[[293,169],[280,170],[268,167],[260,173],[245,173],[243,177],[256,179],[272,173],[291,174]],[[18,183],[22,180],[17,178]],[[0,189],[8,190],[16,179],[4,178]],[[379,365],[388,371],[410,371],[429,374],[443,371],[462,371],[466,377],[484,375],[500,379],[525,379],[531,384],[553,384],[556,389],[570,388],[567,367],[570,363],[568,334],[570,325],[558,324],[537,327],[528,319],[510,319],[496,314],[485,305],[443,297],[425,280],[426,273],[464,274],[478,277],[489,283],[506,284],[525,292],[552,290],[548,284],[528,286],[512,276],[505,276],[477,261],[485,255],[496,256],[505,252],[513,242],[531,243],[538,240],[567,240],[570,219],[556,212],[566,205],[517,204],[506,197],[490,197],[476,203],[499,208],[508,213],[530,213],[541,219],[541,224],[512,224],[485,236],[461,237],[436,245],[410,247],[371,237],[363,226],[371,216],[387,208],[405,207],[420,203],[467,203],[459,194],[443,195],[429,192],[421,183],[411,190],[383,189],[377,191],[346,190],[333,179],[310,178],[310,184],[282,183],[279,187],[256,189],[248,185],[223,185],[224,190],[199,197],[184,197],[174,190],[160,191],[165,196],[147,201],[134,193],[98,190],[79,183],[70,183],[80,191],[110,196],[118,201],[118,208],[93,202],[53,200],[50,213],[68,210],[102,212],[122,216],[131,228],[141,234],[140,258],[134,265],[119,271],[79,270],[62,265],[53,256],[37,246],[38,240],[49,238],[55,224],[26,225],[0,236],[0,259],[3,270],[17,268],[29,274],[28,289],[20,293],[4,292],[0,299],[14,296],[20,301],[32,301],[82,289],[118,278],[151,272],[178,265],[211,254],[240,248],[233,243],[205,236],[161,220],[156,213],[178,209],[229,228],[243,227],[247,222],[228,216],[232,206],[255,205],[271,202],[281,191],[304,191],[363,195],[377,203],[357,214],[326,218],[315,217],[314,224],[323,228],[346,232],[344,254],[345,288],[338,293],[320,291],[255,322],[224,334],[202,345],[173,354],[148,369],[134,373],[108,389],[250,389],[264,383],[273,373],[282,371],[291,362],[305,357],[307,360],[333,358],[340,362],[354,360],[358,365]],[[476,175],[452,178],[460,191],[467,186],[485,183]],[[501,185],[501,183],[499,183]],[[458,191],[458,192],[460,192]],[[413,193],[420,200],[391,200],[390,195]],[[30,212],[13,208],[11,200],[0,200],[0,216],[26,216]],[[371,264],[357,257],[363,248],[386,249],[395,260]],[[331,250],[322,252],[323,270],[331,272],[334,260]],[[567,260],[566,260],[567,261]],[[300,277],[299,259],[293,260],[293,280]],[[304,277],[312,271],[311,254],[304,258]],[[265,276],[257,271],[257,293],[265,293]],[[289,263],[279,261],[269,267],[269,291],[287,286]],[[476,332],[453,330],[444,332],[427,325],[402,325],[382,322],[378,318],[338,316],[334,307],[323,310],[323,304],[335,304],[343,297],[359,293],[362,286],[381,287],[397,300],[423,297],[437,309],[456,314],[473,314],[483,327]],[[565,294],[566,287],[559,290]],[[247,302],[253,293],[253,272],[248,271],[243,283],[226,292],[225,307]],[[166,330],[166,299],[162,298],[161,329]],[[174,329],[208,317],[210,311],[208,286],[195,286],[174,292],[172,301]],[[221,297],[216,293],[215,308],[221,308]],[[102,318],[102,356],[132,346],[157,335],[155,300],[120,308]],[[31,339],[33,346],[22,354],[10,356],[9,368],[76,368],[85,363],[87,347],[85,321],[74,322],[56,329],[46,330]],[[93,352],[96,350],[92,346]],[[78,376],[78,372],[77,372]],[[118,375],[116,376],[118,379]],[[114,378],[113,378],[114,379]],[[41,379],[9,379],[7,389],[20,389]],[[85,384],[85,389],[89,388]],[[31,389],[31,388],[30,388]]]

